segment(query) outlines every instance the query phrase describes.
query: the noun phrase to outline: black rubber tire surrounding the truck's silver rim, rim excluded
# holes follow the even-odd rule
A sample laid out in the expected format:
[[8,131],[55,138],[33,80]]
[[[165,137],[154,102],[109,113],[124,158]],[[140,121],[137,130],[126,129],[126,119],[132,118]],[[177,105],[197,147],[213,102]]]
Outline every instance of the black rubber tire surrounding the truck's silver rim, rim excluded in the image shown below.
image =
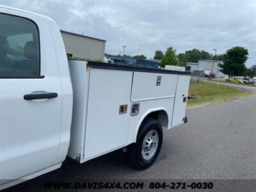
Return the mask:
[[[148,132],[155,130],[158,134],[158,145],[154,156],[150,159],[144,159],[142,155],[143,140]],[[132,143],[128,150],[128,161],[132,168],[137,170],[145,170],[150,167],[157,159],[163,143],[163,128],[162,125],[153,118],[145,118],[140,125],[136,143]]]

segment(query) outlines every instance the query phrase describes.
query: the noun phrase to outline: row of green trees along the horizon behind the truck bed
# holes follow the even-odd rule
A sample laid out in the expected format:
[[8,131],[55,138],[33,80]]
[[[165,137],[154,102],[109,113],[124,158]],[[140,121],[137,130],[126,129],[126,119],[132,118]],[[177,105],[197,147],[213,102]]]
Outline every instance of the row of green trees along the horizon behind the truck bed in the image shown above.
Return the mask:
[[251,68],[246,68],[245,63],[248,60],[248,50],[244,47],[232,47],[225,54],[212,55],[204,50],[192,49],[183,53],[176,54],[173,47],[168,47],[166,52],[156,51],[154,59],[161,60],[161,65],[179,65],[186,67],[186,63],[197,63],[198,60],[220,60],[220,71],[228,76],[256,76],[256,65]]

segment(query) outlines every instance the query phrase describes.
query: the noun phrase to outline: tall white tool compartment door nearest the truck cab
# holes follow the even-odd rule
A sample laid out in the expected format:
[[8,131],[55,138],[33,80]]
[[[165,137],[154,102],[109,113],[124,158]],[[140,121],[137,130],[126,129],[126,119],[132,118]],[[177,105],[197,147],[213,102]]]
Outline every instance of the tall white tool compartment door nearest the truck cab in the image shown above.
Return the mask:
[[131,71],[90,69],[84,160],[125,145],[131,83]]

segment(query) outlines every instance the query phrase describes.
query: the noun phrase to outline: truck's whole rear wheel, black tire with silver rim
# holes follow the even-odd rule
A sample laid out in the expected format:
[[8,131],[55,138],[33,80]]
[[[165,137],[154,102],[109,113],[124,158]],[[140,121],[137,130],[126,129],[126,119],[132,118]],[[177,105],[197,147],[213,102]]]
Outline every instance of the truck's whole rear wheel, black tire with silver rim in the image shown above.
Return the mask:
[[144,170],[157,159],[163,142],[161,124],[152,118],[145,118],[141,123],[136,143],[129,147],[129,163],[133,168]]

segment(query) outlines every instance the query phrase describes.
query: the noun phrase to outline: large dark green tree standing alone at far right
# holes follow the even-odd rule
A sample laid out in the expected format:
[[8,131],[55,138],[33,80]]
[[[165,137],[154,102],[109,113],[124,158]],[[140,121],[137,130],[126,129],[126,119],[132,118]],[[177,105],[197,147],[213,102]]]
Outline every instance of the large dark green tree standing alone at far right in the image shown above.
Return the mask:
[[223,64],[220,64],[221,72],[228,75],[228,81],[230,76],[243,76],[246,73],[247,68],[245,62],[248,59],[248,50],[244,47],[232,47],[228,49],[223,57]]

